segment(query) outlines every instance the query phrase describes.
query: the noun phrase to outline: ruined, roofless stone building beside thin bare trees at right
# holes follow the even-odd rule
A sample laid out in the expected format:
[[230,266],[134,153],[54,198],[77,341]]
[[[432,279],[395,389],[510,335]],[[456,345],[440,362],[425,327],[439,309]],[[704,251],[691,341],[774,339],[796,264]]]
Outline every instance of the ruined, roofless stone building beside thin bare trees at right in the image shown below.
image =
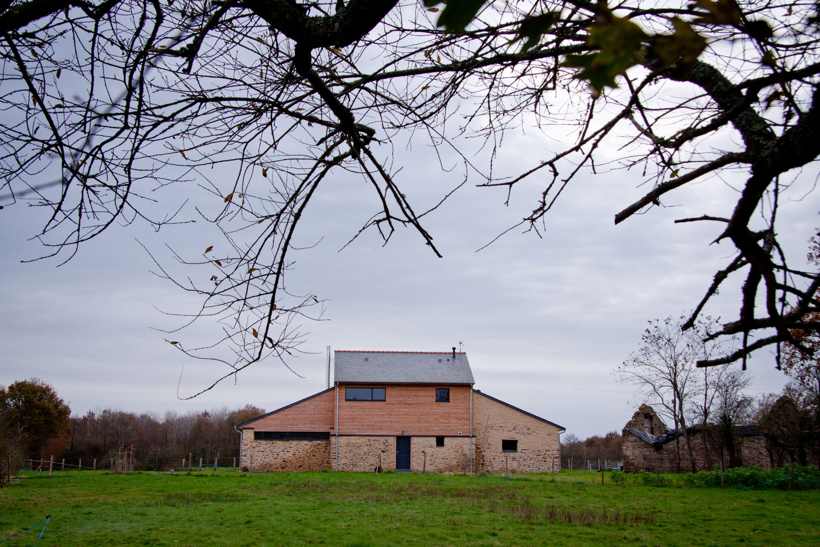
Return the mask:
[[[728,467],[772,467],[766,438],[756,425],[732,426],[720,434],[717,426],[691,426],[687,431],[672,431],[648,404],[626,422],[623,431],[623,470],[625,472],[673,473],[691,470],[686,436],[692,444],[695,471]],[[677,438],[677,439],[676,439]],[[678,459],[680,458],[680,459]]]

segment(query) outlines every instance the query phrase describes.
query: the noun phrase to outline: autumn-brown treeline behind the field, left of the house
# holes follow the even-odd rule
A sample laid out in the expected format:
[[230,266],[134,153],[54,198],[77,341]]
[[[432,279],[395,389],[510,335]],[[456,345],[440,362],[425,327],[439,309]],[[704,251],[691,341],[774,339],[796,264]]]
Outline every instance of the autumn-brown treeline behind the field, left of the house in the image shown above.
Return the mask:
[[[130,413],[95,408],[83,416],[46,382],[37,378],[0,385],[0,471],[40,467],[51,458],[63,465],[134,470],[180,469],[182,459],[198,466],[239,463],[239,433],[234,426],[265,413],[264,408],[215,408],[204,412]],[[236,458],[236,459],[235,459]]]

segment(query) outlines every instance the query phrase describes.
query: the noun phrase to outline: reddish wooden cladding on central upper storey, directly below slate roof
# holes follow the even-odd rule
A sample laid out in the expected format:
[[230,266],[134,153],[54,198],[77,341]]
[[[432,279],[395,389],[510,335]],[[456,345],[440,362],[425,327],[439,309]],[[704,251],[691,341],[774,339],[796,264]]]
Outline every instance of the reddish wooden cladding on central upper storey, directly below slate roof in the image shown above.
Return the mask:
[[[470,386],[449,385],[449,403],[436,403],[441,385],[380,384],[384,401],[347,401],[339,390],[339,435],[470,435]],[[349,385],[349,387],[366,387]]]

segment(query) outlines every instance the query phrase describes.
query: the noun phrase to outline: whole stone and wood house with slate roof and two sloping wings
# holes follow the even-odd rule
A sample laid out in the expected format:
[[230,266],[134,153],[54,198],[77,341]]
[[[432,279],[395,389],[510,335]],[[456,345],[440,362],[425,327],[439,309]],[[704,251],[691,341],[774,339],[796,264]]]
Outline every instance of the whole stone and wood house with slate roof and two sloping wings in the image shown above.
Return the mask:
[[473,389],[467,354],[335,351],[332,387],[236,426],[253,471],[541,472],[562,426]]

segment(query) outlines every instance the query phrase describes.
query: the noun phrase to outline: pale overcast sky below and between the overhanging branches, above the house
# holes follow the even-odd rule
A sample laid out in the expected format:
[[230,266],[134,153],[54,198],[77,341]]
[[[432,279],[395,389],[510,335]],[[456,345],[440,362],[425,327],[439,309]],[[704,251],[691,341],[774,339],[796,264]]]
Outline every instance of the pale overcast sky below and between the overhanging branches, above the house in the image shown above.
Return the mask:
[[[554,146],[539,134],[512,134],[499,168],[531,166]],[[395,164],[404,166],[398,180],[414,203],[435,203],[462,178],[458,168],[441,171],[423,146],[403,152]],[[809,194],[816,175],[800,175],[781,204],[780,240],[797,257],[818,226],[816,194]],[[543,237],[512,230],[476,252],[532,210],[545,176],[520,185],[508,207],[503,189],[465,185],[426,219],[444,258],[435,258],[409,230],[385,247],[368,233],[339,252],[377,204],[362,180],[328,180],[300,229],[301,243],[319,243],[294,255],[289,276],[291,290],[326,299],[326,321],[304,325],[306,353],[289,361],[305,377],[279,362],[261,362],[188,401],[178,399],[178,383],[185,397],[221,370],[185,358],[150,328],[175,325],[155,307],[175,311],[195,302],[149,273],[152,263],[137,239],[162,255],[166,241],[205,248],[212,244],[207,230],[198,224],[155,234],[146,226],[114,226],[61,267],[54,260],[24,264],[43,253],[26,241],[38,219],[25,203],[5,207],[0,384],[38,377],[75,414],[109,407],[187,412],[245,403],[270,411],[325,389],[327,345],[413,351],[457,346],[467,352],[477,389],[581,438],[621,431],[642,401],[634,386],[616,381],[613,370],[637,349],[646,321],[695,306],[732,256],[729,244],[709,245],[719,226],[672,221],[727,215],[726,203],[736,198],[731,185],[742,178],[727,174],[681,189],[665,203],[675,207],[655,207],[614,226],[615,213],[645,192],[637,187],[640,174],[586,174],[549,214]],[[168,199],[181,202],[190,189],[175,192]],[[184,213],[194,214],[191,208]],[[739,302],[737,283],[730,286],[735,290],[724,289],[708,308],[727,320],[736,318]],[[749,366],[753,394],[781,390],[783,376],[768,349]]]

